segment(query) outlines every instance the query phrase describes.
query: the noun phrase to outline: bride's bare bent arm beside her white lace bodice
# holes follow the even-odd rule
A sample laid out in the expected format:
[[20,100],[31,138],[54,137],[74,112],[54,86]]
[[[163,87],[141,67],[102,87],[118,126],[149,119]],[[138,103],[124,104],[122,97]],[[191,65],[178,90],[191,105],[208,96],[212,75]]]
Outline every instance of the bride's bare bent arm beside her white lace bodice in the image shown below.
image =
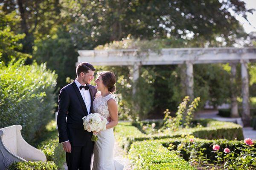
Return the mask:
[[111,116],[111,122],[107,124],[107,129],[114,127],[118,124],[117,104],[113,98],[108,100],[108,110]]

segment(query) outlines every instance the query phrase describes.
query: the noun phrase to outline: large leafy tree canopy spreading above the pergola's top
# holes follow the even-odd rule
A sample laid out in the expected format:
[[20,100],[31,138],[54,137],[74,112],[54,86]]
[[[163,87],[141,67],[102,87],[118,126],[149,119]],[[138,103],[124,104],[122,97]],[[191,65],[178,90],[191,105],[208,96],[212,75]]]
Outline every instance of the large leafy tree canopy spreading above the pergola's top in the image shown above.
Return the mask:
[[[215,37],[225,41],[243,32],[234,14],[244,18],[253,12],[240,0],[61,0],[61,17],[79,48],[135,38],[176,37],[211,43]],[[230,12],[233,12],[232,15]]]

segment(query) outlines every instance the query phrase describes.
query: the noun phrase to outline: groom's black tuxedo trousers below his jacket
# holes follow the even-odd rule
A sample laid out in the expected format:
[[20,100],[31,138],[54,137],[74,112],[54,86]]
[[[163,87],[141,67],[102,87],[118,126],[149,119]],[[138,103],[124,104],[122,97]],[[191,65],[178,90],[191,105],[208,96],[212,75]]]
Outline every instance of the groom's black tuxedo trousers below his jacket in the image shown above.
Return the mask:
[[66,152],[68,170],[90,170],[93,145],[93,141],[86,141],[82,147],[71,146],[71,153]]

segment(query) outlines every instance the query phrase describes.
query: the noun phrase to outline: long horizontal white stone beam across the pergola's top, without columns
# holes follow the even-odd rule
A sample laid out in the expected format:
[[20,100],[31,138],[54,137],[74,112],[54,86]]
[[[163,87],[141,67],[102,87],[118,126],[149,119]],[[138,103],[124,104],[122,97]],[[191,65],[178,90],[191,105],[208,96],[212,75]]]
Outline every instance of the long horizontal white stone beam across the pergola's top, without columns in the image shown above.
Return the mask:
[[256,48],[180,48],[161,52],[138,52],[137,49],[79,50],[78,63],[87,61],[98,66],[171,65],[191,61],[200,63],[227,63],[240,60],[256,61]]

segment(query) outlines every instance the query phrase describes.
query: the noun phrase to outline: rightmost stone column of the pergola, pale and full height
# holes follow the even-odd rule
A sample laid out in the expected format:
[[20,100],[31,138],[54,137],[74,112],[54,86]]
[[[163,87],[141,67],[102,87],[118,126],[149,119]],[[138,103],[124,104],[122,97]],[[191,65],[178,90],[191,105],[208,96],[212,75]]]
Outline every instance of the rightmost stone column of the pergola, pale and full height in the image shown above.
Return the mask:
[[244,126],[250,126],[250,105],[249,105],[249,79],[247,72],[247,63],[248,61],[241,60],[241,77],[242,77],[242,120]]

